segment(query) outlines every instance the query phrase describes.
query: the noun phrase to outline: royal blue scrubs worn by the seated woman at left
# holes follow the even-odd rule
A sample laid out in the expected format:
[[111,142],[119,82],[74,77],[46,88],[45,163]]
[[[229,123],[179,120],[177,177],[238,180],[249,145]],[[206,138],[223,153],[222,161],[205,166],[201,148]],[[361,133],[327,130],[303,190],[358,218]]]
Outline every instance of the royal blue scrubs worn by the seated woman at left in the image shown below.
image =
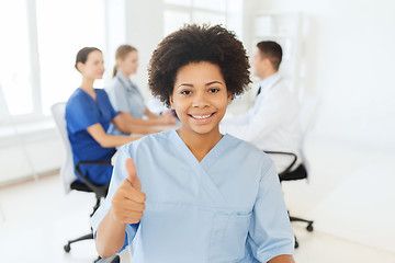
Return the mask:
[[[111,121],[117,115],[104,90],[95,89],[97,101],[78,88],[66,104],[67,133],[71,144],[74,162],[91,160],[111,160],[115,148],[103,148],[87,132],[89,126],[101,124],[106,130]],[[112,167],[99,164],[81,165],[82,173],[95,184],[106,184],[111,180]],[[82,180],[76,175],[80,182]]]

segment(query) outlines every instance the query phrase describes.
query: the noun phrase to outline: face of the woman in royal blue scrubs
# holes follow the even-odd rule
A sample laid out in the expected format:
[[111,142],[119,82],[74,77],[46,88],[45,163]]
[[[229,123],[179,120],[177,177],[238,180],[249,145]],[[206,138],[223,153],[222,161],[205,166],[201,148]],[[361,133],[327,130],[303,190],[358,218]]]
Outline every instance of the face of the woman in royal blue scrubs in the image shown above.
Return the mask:
[[84,78],[93,80],[103,78],[103,54],[99,50],[91,52],[88,54],[88,58],[84,64],[79,62],[78,69]]

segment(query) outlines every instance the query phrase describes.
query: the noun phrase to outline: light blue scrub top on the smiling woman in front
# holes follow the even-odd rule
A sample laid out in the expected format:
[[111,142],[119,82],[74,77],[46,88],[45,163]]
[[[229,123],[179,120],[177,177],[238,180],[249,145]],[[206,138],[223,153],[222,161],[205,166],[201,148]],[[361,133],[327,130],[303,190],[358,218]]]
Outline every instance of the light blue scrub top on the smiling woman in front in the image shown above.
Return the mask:
[[176,130],[122,147],[109,194],[92,217],[94,231],[127,176],[126,158],[134,160],[147,196],[139,224],[126,226],[133,262],[266,263],[293,254],[294,237],[272,161],[230,135],[201,162]]

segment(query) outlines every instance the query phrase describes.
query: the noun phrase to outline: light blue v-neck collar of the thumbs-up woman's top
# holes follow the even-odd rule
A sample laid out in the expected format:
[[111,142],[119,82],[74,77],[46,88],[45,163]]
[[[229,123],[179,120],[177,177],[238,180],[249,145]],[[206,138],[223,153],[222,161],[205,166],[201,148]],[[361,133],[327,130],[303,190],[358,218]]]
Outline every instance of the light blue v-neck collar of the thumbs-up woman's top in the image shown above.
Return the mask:
[[200,165],[210,165],[210,163],[212,163],[211,160],[216,159],[216,157],[218,155],[221,155],[222,149],[226,146],[226,141],[228,140],[228,134],[225,134],[219,140],[218,142],[215,144],[215,146],[205,155],[205,157],[199,161],[196,159],[196,157],[192,153],[192,151],[190,150],[190,148],[188,148],[188,146],[185,145],[185,142],[182,140],[182,138],[180,137],[180,135],[177,133],[176,129],[171,130],[170,134],[171,138],[176,141],[176,147],[177,149],[183,155],[185,156],[185,158],[188,158],[192,163],[198,163]]

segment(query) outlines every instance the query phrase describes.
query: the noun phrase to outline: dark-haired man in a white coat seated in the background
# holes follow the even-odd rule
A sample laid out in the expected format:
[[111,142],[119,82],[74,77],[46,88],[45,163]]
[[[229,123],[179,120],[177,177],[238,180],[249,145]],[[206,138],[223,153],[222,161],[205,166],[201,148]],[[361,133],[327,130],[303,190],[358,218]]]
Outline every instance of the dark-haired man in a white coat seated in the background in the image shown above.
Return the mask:
[[[226,118],[221,132],[252,142],[261,150],[295,153],[296,169],[301,162],[302,130],[300,108],[294,93],[279,73],[282,49],[275,42],[260,42],[253,57],[255,75],[261,79],[253,106],[245,114]],[[271,155],[278,173],[292,161],[289,156]]]

